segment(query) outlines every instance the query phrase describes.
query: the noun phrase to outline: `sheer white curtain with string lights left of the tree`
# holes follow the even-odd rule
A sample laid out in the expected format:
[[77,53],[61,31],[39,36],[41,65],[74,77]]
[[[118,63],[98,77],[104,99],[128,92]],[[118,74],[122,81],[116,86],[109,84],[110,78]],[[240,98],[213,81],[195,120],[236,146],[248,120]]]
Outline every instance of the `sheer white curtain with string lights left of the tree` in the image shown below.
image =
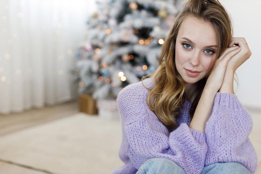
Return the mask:
[[0,113],[70,100],[87,0],[0,0]]

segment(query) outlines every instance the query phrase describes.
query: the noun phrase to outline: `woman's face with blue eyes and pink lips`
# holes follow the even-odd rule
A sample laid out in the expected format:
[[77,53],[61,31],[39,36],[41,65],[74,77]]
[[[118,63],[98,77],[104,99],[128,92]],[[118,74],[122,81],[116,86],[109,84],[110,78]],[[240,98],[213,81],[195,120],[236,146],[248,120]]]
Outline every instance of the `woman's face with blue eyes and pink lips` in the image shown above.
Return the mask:
[[175,66],[187,84],[206,77],[217,52],[216,33],[211,23],[187,16],[178,30],[175,43]]

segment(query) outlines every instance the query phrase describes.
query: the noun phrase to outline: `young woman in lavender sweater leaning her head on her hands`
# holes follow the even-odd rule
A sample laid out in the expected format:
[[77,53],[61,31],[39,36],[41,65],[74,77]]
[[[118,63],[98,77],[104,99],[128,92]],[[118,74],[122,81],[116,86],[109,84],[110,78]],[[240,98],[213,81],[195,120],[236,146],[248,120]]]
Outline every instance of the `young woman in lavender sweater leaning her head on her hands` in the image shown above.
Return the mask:
[[252,119],[233,91],[250,56],[218,0],[188,0],[153,77],[118,95],[125,165],[113,173],[253,174]]

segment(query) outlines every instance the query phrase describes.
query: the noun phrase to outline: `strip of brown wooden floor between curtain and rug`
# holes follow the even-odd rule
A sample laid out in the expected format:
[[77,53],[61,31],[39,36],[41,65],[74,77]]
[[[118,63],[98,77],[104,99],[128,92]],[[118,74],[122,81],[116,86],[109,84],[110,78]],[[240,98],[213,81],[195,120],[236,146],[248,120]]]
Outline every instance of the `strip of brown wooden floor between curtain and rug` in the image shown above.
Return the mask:
[[70,116],[78,112],[77,102],[71,101],[41,109],[31,109],[22,113],[12,113],[9,115],[0,114],[0,136]]

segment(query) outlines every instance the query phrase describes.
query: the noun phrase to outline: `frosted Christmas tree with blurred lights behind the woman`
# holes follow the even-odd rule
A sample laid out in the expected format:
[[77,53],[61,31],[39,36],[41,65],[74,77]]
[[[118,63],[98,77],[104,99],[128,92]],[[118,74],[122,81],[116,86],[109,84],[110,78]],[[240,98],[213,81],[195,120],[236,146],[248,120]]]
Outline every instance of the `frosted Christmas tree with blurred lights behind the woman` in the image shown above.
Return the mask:
[[152,75],[182,0],[97,0],[76,57],[80,93],[116,97]]

